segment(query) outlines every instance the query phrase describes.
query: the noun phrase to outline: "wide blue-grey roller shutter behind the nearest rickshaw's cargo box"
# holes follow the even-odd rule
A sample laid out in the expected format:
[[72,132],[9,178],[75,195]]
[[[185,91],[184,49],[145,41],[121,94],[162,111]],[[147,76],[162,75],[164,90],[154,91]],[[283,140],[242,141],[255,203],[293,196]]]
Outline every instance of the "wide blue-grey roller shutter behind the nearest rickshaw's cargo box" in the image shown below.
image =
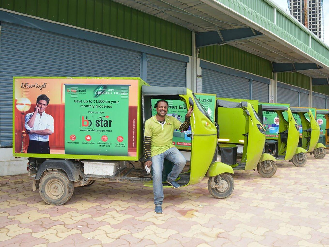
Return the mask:
[[1,22],[0,140],[12,145],[13,76],[140,76],[140,53]]

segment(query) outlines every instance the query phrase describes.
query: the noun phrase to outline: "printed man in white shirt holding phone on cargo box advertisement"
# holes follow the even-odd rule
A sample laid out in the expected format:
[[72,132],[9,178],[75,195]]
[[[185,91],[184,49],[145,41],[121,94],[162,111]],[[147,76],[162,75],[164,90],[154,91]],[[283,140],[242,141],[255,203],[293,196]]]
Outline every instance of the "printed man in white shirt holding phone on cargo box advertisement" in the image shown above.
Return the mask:
[[45,112],[48,104],[48,96],[39,95],[34,112],[25,115],[24,127],[30,138],[28,153],[50,153],[49,135],[54,133],[54,118]]

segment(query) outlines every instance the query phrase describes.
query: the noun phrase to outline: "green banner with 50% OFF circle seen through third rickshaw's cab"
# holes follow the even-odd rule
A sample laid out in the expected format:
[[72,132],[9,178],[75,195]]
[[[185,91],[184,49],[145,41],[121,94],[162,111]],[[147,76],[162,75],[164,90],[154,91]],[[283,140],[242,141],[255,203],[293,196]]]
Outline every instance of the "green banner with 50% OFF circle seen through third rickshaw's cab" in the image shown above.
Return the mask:
[[[279,104],[279,103],[260,103],[260,104],[289,107],[289,104]],[[282,115],[285,119],[288,119],[287,112],[283,112]],[[278,114],[275,111],[263,110],[263,126],[266,131],[265,132],[266,139],[277,140],[279,138],[280,120]]]

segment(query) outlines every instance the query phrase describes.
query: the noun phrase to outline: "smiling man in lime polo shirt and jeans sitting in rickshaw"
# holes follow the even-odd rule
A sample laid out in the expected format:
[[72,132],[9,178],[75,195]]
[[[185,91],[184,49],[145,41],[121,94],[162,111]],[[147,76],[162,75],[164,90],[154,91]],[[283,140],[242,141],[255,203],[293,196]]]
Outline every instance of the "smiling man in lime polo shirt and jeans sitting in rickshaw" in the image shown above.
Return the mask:
[[175,181],[182,172],[186,159],[183,154],[172,144],[174,129],[188,130],[193,108],[190,107],[185,115],[184,123],[172,116],[167,116],[168,102],[159,100],[156,103],[157,114],[145,122],[144,152],[145,165],[152,167],[153,171],[153,193],[156,213],[162,213],[162,201],[164,192],[162,187],[162,170],[164,159],[174,163],[174,167],[168,174],[166,180],[173,188],[178,189],[180,185]]

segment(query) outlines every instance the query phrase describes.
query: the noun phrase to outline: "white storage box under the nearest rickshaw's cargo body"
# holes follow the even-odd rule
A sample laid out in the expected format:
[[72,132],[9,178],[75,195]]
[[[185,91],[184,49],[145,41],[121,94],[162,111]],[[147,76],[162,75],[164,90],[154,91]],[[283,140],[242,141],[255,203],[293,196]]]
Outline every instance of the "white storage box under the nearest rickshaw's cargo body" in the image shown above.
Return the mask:
[[124,161],[119,160],[82,160],[85,164],[84,173],[90,175],[114,176],[118,173],[119,168],[122,170],[126,167]]

